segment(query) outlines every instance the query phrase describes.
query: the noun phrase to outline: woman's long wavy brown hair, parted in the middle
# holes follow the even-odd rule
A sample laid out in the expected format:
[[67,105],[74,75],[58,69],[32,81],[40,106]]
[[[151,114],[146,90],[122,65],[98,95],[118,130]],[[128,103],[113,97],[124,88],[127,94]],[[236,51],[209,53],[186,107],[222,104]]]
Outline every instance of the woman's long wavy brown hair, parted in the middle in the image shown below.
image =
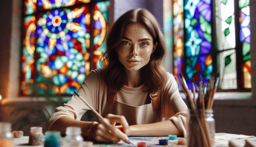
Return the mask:
[[115,50],[121,43],[126,24],[130,22],[143,23],[149,30],[154,44],[158,42],[153,57],[148,64],[141,69],[141,78],[147,87],[147,92],[157,92],[166,84],[166,71],[161,65],[162,58],[165,54],[165,40],[156,18],[147,10],[132,9],[120,16],[112,25],[107,34],[106,44],[107,51],[105,55],[106,67],[102,71],[103,78],[108,87],[113,90],[119,90],[127,83],[127,75],[123,64],[118,60],[117,51]]

